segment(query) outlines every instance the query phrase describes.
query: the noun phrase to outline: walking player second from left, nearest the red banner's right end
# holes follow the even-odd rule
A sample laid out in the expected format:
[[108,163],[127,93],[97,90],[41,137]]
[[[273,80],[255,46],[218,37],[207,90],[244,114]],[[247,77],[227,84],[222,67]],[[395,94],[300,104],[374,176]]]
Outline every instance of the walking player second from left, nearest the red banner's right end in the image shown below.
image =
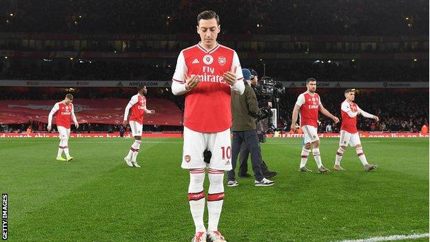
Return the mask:
[[130,99],[124,112],[124,127],[127,127],[127,117],[130,110],[130,130],[132,130],[132,136],[134,137],[134,143],[128,151],[127,157],[124,157],[125,163],[130,167],[140,168],[141,166],[137,163],[136,158],[139,154],[139,148],[142,143],[142,128],[143,128],[143,115],[154,114],[155,110],[147,110],[146,108],[146,97],[143,96],[147,93],[145,85],[139,85],[137,88],[138,93]]

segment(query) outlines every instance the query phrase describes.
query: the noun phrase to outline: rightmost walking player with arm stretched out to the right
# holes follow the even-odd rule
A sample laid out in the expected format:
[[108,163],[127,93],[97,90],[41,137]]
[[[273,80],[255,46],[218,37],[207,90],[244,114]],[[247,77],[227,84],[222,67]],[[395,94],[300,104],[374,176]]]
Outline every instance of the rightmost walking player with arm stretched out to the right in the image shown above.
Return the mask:
[[340,112],[342,112],[342,125],[340,126],[340,141],[339,149],[336,152],[336,161],[334,163],[334,170],[345,170],[340,166],[340,160],[343,157],[343,153],[347,149],[348,145],[356,148],[358,159],[365,166],[365,171],[373,170],[378,168],[378,165],[369,165],[366,160],[365,153],[362,151],[360,136],[358,136],[357,130],[357,115],[361,114],[363,117],[369,119],[375,119],[376,122],[379,121],[378,116],[369,114],[354,103],[356,99],[356,92],[354,89],[348,89],[345,91],[345,101],[340,105]]

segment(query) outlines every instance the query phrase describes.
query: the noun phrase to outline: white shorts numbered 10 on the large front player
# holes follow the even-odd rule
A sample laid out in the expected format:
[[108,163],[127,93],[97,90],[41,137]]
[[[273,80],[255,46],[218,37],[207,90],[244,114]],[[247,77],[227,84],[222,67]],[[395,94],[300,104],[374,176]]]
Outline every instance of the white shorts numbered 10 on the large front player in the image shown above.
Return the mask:
[[[210,163],[203,161],[205,150],[212,152]],[[202,133],[184,126],[182,168],[232,170],[232,140],[230,129],[217,133]]]

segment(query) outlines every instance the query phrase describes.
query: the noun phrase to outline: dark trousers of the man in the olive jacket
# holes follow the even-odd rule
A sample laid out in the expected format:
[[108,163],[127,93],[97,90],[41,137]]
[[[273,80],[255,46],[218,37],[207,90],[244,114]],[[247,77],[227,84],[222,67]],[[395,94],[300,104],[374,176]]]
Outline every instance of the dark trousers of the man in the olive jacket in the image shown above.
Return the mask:
[[232,140],[232,170],[228,172],[228,180],[234,181],[235,174],[234,170],[236,168],[238,154],[240,152],[240,145],[245,143],[246,148],[251,154],[252,170],[254,170],[254,176],[257,181],[261,181],[263,177],[263,172],[261,172],[261,150],[258,145],[258,137],[256,130],[245,130],[240,132],[233,132]]

